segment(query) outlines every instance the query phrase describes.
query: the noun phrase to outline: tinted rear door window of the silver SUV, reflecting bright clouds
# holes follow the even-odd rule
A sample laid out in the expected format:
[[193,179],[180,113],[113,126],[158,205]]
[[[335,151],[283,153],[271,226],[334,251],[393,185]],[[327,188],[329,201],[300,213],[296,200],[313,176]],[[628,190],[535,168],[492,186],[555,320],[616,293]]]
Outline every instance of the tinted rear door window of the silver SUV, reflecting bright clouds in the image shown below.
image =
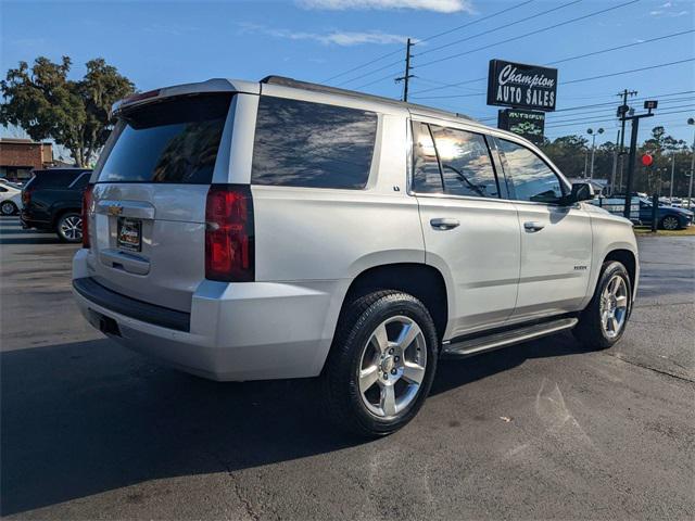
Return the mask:
[[446,193],[498,198],[497,180],[485,138],[479,134],[431,125]]

